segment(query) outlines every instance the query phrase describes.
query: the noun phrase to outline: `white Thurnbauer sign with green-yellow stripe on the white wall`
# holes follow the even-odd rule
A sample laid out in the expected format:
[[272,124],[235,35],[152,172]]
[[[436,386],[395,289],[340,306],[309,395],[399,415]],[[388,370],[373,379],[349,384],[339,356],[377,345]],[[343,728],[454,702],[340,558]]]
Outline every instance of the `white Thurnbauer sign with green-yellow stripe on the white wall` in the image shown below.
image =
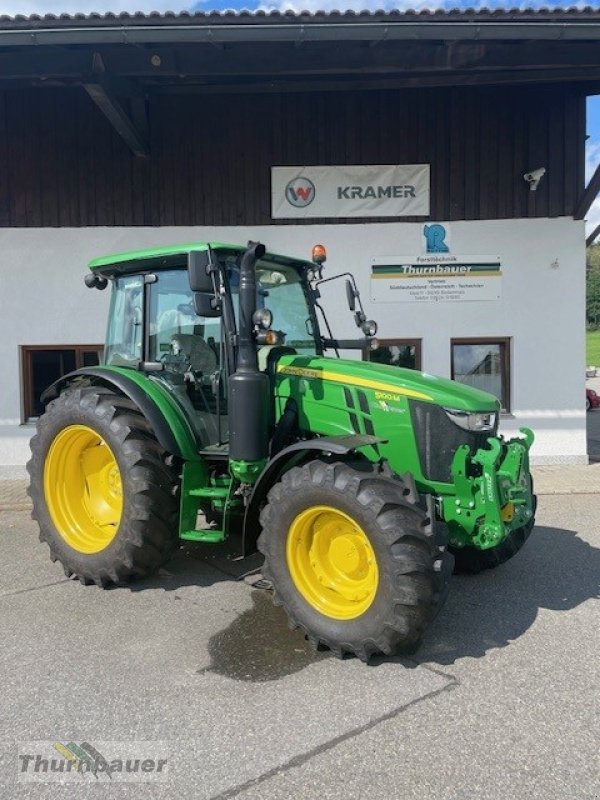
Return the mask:
[[498,300],[502,269],[498,256],[374,258],[371,300],[379,303],[451,303]]

